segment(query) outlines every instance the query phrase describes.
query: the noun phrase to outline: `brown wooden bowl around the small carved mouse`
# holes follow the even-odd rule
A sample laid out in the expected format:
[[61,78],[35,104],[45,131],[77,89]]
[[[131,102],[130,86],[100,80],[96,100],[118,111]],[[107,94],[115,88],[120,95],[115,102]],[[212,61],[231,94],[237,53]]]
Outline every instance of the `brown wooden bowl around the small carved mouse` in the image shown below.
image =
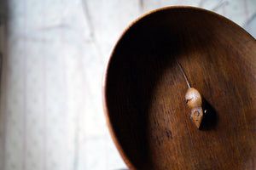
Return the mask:
[[[206,101],[201,129],[184,101]],[[160,8],[126,29],[103,81],[108,127],[131,169],[255,169],[256,41],[201,8]]]

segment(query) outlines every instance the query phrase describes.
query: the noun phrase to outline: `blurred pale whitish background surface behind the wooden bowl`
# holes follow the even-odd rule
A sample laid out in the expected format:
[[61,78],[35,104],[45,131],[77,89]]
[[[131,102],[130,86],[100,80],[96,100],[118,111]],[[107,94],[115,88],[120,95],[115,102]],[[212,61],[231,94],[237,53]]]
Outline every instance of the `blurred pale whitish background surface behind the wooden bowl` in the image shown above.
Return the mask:
[[102,110],[102,75],[133,20],[207,8],[256,37],[255,0],[0,0],[0,170],[125,169]]

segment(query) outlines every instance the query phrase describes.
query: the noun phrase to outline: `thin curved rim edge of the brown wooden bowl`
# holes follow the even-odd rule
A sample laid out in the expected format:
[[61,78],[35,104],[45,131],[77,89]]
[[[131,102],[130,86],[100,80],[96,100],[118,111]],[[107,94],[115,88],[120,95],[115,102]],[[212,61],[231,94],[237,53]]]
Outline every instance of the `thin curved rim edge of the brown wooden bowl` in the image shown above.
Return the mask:
[[215,15],[221,20],[226,20],[228,23],[235,26],[240,31],[243,31],[244,33],[246,33],[247,36],[252,37],[254,39],[254,37],[251,34],[249,34],[247,31],[245,31],[241,26],[237,25],[235,22],[233,22],[232,20],[224,17],[221,14],[217,14],[217,13],[215,13],[213,11],[210,11],[210,10],[207,10],[205,8],[198,8],[198,7],[193,7],[193,6],[183,6],[183,5],[181,5],[181,6],[167,6],[167,7],[156,8],[154,10],[151,10],[151,11],[141,15],[136,20],[133,20],[131,22],[131,24],[129,26],[127,26],[124,31],[122,31],[118,40],[114,43],[113,48],[111,50],[111,54],[109,55],[109,58],[108,58],[107,62],[104,65],[104,71],[103,71],[103,75],[102,75],[102,105],[103,105],[103,111],[104,111],[104,115],[105,115],[105,118],[106,118],[108,130],[109,130],[109,133],[111,135],[111,138],[113,139],[113,143],[115,144],[117,150],[119,151],[119,155],[125,161],[125,164],[127,165],[127,167],[129,167],[129,169],[136,169],[136,167],[129,160],[129,157],[126,156],[125,150],[123,150],[121,144],[119,143],[117,135],[114,133],[113,126],[112,126],[110,118],[109,118],[108,105],[107,105],[107,99],[106,99],[107,98],[106,93],[107,93],[107,80],[108,80],[109,65],[110,65],[111,60],[113,58],[113,52],[117,48],[117,45],[119,44],[120,40],[122,39],[122,37],[124,37],[125,33],[127,31],[129,31],[131,29],[131,27],[134,26],[139,20],[143,20],[143,18],[147,17],[148,15],[155,14],[155,13],[158,13],[160,11],[170,10],[170,9],[172,10],[172,9],[178,9],[178,8],[180,8],[180,9],[186,8],[186,9],[189,9],[189,10],[202,11],[202,12],[205,12],[207,14]]

